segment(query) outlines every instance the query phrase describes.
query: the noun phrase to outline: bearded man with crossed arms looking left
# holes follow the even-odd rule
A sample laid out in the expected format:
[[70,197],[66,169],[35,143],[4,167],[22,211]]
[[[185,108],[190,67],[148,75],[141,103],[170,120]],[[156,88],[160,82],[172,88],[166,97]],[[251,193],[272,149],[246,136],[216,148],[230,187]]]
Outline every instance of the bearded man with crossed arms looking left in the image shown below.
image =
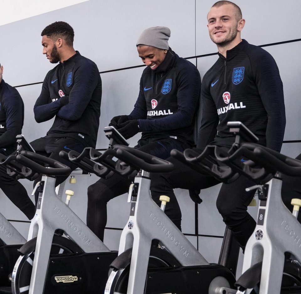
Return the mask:
[[[82,152],[96,146],[101,103],[101,79],[96,64],[73,48],[74,31],[63,21],[48,25],[41,33],[43,54],[50,70],[34,105],[34,118],[42,123],[55,117],[46,136],[31,142],[34,150],[74,170],[77,166],[59,156],[61,150]],[[56,185],[67,176],[56,178]],[[40,181],[41,175],[34,181]],[[15,189],[15,192],[17,189]],[[39,193],[35,193],[35,201]]]

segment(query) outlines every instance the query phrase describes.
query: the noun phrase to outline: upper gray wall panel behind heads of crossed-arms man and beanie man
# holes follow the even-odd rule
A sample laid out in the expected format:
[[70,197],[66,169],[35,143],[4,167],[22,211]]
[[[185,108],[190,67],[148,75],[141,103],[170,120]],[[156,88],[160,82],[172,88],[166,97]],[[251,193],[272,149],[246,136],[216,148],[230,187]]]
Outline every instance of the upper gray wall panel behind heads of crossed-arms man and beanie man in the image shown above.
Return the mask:
[[[42,55],[40,34],[46,25],[58,20],[71,24],[74,48],[93,60],[99,71],[139,65],[135,45],[141,32],[152,26],[171,29],[170,46],[179,55],[195,55],[194,1],[183,5],[181,0],[155,0],[151,5],[160,9],[146,13],[149,8],[141,7],[139,0],[90,0],[3,25],[0,38],[13,45],[0,48],[0,62],[9,68],[7,76],[14,80],[14,86],[43,81],[53,65]],[[185,20],[185,26],[175,19]]]

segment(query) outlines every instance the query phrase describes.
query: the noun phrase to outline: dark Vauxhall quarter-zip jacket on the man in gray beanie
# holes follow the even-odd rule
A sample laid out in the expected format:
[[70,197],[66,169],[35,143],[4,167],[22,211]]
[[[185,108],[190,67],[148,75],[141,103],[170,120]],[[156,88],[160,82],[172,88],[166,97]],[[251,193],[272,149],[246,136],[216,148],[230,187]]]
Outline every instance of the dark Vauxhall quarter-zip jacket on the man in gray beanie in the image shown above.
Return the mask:
[[198,69],[171,48],[156,70],[146,67],[130,119],[138,119],[141,139],[174,138],[193,145],[195,113],[200,97]]

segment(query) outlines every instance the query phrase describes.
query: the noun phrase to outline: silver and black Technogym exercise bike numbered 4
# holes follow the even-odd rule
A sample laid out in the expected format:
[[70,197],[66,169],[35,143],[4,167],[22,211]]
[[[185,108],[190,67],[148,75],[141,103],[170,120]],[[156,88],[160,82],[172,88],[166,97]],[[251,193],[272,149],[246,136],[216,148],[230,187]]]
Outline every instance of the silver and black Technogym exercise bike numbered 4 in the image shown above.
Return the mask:
[[135,176],[129,188],[129,220],[104,293],[236,293],[233,273],[222,265],[208,263],[166,216],[168,197],[161,197],[161,207],[151,198],[150,172],[172,171],[173,165],[123,144],[124,139],[114,128],[107,130],[107,137],[111,148],[103,153],[86,148],[82,154],[68,154],[69,160],[91,172],[105,166],[121,176]]

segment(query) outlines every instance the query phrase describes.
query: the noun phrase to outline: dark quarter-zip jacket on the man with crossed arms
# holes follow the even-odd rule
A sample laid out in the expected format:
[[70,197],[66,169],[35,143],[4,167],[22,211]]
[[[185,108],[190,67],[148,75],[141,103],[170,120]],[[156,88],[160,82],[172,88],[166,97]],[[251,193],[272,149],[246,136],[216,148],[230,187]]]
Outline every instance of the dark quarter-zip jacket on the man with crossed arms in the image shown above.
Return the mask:
[[47,73],[34,105],[34,118],[41,123],[55,116],[45,137],[73,138],[95,148],[101,94],[96,64],[77,51]]

